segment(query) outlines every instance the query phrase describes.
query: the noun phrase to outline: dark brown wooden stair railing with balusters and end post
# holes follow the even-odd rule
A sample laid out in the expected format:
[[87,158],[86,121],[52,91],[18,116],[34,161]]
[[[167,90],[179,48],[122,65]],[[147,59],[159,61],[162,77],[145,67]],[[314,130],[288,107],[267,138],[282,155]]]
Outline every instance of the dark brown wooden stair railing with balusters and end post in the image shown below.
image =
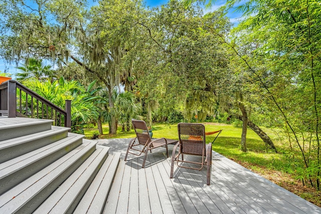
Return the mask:
[[71,127],[71,100],[66,100],[65,108],[63,110],[15,80],[0,85],[0,116],[51,119],[53,125]]

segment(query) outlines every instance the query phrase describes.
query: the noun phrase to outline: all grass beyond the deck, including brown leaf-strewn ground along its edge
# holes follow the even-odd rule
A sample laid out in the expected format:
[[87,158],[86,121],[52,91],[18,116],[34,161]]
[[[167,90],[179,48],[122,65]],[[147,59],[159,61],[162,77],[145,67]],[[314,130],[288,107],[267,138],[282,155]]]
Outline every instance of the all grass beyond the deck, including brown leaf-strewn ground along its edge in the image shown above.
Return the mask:
[[[287,173],[287,169],[291,167],[288,156],[290,150],[287,143],[278,139],[277,136],[269,129],[265,129],[272,138],[278,153],[266,148],[262,139],[250,128],[247,130],[246,143],[248,152],[241,151],[241,134],[242,128],[228,124],[205,123],[205,131],[216,131],[223,129],[219,137],[212,145],[214,151],[234,160],[244,167],[260,174],[261,176],[273,181],[274,183],[302,196],[304,199],[321,206],[321,194],[313,188],[303,186],[302,183],[294,178],[294,174]],[[90,138],[94,132],[98,132],[96,128],[85,128],[85,135]],[[103,124],[104,135],[99,138],[132,138],[135,136],[133,130],[122,132],[118,127],[117,134],[108,134],[108,125]],[[177,124],[154,124],[152,126],[154,138],[171,138],[178,139]],[[212,142],[214,135],[206,136],[206,142]],[[292,169],[293,171],[295,169]]]

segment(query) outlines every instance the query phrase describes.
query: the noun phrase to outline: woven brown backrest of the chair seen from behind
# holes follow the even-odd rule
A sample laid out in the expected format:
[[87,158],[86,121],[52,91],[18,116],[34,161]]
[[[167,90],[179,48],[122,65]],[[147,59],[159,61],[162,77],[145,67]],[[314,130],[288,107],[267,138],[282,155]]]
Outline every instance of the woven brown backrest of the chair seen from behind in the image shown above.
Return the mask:
[[205,126],[201,123],[179,123],[179,142],[182,153],[202,155],[205,153]]

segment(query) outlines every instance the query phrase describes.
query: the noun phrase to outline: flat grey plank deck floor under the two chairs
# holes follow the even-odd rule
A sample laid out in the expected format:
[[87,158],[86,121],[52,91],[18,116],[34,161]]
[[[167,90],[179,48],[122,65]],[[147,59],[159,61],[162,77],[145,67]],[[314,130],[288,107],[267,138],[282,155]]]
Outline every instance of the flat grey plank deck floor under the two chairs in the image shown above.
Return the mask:
[[[122,157],[104,213],[321,213],[320,207],[216,152],[208,186],[206,167],[176,167],[170,179],[171,157],[164,148],[148,153],[145,168],[142,156],[124,161],[128,142],[99,140]],[[170,155],[173,147],[169,146]]]

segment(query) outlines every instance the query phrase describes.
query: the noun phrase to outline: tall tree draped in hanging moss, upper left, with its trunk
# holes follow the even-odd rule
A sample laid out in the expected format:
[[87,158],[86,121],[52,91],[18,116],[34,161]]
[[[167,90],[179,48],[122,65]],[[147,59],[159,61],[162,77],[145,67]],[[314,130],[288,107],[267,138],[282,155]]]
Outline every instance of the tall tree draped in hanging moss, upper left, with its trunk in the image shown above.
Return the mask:
[[[8,61],[30,57],[51,59],[58,66],[71,61],[107,88],[109,111],[112,91],[128,87],[132,65],[125,58],[135,45],[140,1],[99,1],[90,11],[85,0],[1,0],[3,19],[0,54]],[[110,115],[111,133],[116,132]]]

